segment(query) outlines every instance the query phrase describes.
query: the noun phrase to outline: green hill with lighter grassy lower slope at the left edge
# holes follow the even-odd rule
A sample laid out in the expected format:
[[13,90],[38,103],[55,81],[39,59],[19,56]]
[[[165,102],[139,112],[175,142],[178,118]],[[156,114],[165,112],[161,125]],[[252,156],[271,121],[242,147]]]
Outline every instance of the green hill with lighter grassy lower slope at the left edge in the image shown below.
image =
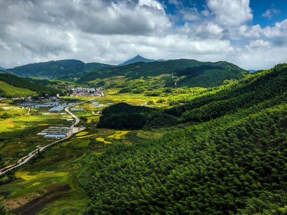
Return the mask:
[[0,74],[0,96],[27,97],[46,94],[55,96],[57,93],[62,94],[59,90],[45,87],[26,78],[12,74]]

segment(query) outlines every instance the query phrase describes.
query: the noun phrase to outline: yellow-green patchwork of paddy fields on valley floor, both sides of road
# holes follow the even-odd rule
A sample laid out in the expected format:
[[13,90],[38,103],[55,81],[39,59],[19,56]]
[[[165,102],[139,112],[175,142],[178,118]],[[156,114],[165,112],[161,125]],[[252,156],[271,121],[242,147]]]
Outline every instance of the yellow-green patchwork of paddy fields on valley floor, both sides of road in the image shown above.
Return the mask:
[[[141,94],[118,94],[108,91],[106,97],[94,98],[75,107],[83,111],[74,112],[80,118],[80,124],[86,129],[42,152],[31,162],[17,168],[10,174],[12,181],[0,186],[0,202],[15,214],[81,214],[86,209],[88,195],[85,186],[85,163],[91,157],[99,156],[116,144],[132,145],[157,139],[168,128],[150,131],[119,131],[97,128],[96,124],[104,107],[117,102],[134,105],[147,105],[162,97],[148,97]],[[65,97],[64,101],[83,101],[90,98]],[[0,103],[1,104],[1,103]],[[7,104],[5,104],[7,106]],[[1,106],[1,105],[0,105]],[[4,106],[4,105],[2,105]],[[154,103],[149,106],[167,106]],[[69,125],[69,115],[50,114],[46,109],[28,110],[9,109],[19,112],[19,116],[0,120],[0,153],[4,165],[10,165],[20,157],[34,150],[37,145],[48,144],[54,139],[44,139],[36,135],[51,125]],[[7,110],[6,110],[7,111]],[[166,129],[166,130],[165,130]],[[10,175],[10,178],[12,177]],[[0,182],[7,176],[0,177]],[[84,184],[83,184],[84,183]]]

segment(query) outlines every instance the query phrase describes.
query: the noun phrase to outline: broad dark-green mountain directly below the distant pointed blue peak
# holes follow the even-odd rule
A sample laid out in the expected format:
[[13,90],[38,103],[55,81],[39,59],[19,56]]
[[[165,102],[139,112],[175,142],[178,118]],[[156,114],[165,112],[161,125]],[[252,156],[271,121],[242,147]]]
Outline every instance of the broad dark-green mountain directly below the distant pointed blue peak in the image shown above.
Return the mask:
[[[130,65],[109,67],[78,76],[78,83],[85,83],[97,78],[125,76],[129,79],[140,77],[156,77],[172,74],[180,77],[179,85],[191,87],[214,87],[226,79],[241,79],[248,71],[227,61],[201,62],[193,59],[177,59],[169,61],[136,62]],[[171,82],[174,80],[166,80]]]

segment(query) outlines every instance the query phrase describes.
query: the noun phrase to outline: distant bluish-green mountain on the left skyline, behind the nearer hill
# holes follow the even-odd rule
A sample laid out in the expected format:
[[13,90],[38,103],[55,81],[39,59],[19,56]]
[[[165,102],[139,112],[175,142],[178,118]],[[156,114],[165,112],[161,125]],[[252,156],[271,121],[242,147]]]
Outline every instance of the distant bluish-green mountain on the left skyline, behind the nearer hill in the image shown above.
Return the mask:
[[6,72],[18,76],[52,79],[111,66],[103,63],[84,63],[80,60],[71,59],[29,63],[28,65],[8,69]]

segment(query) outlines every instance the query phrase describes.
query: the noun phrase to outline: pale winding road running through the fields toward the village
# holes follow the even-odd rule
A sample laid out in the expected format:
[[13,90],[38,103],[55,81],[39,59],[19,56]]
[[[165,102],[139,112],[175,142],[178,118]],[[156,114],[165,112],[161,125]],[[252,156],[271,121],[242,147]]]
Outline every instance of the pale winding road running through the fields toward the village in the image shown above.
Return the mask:
[[[83,102],[79,102],[79,103],[76,103],[76,104],[73,104],[73,105],[71,105],[71,106],[66,107],[65,111],[66,111],[68,114],[70,114],[70,115],[75,119],[74,124],[72,124],[71,127],[70,127],[70,128],[71,128],[71,131],[69,132],[69,134],[67,135],[67,137],[65,137],[65,138],[63,138],[63,139],[60,139],[60,140],[57,140],[57,141],[55,141],[55,142],[52,142],[52,143],[50,143],[49,145],[45,145],[44,147],[40,148],[39,151],[42,152],[43,150],[45,150],[46,148],[50,147],[51,145],[54,145],[54,144],[56,144],[56,143],[58,143],[58,142],[60,142],[60,141],[69,139],[69,138],[72,136],[72,134],[73,134],[73,128],[74,128],[74,126],[77,125],[77,124],[80,122],[80,119],[79,119],[76,115],[74,115],[72,112],[69,111],[69,108],[72,107],[72,106],[76,106],[76,105],[85,103],[85,102],[87,102],[87,101],[91,101],[91,100],[93,100],[93,99],[94,99],[94,98],[89,99],[89,100],[85,100],[85,101],[83,101]],[[83,127],[83,129],[81,129],[81,131],[83,131],[84,129],[85,129],[85,127]],[[38,152],[38,149],[35,149],[35,150],[33,150],[32,152],[30,152],[27,156],[25,156],[25,157],[19,159],[19,160],[17,161],[17,163],[15,163],[16,165],[13,164],[13,165],[11,165],[11,166],[8,166],[8,167],[6,167],[6,168],[3,168],[2,171],[0,170],[0,171],[1,171],[1,172],[0,172],[0,176],[3,175],[3,174],[5,174],[5,173],[7,173],[7,171],[9,171],[9,170],[11,170],[11,169],[17,168],[17,167],[22,166],[23,164],[27,163],[27,162],[28,162],[29,160],[31,160],[34,156],[37,155],[37,152]],[[4,169],[5,169],[5,170],[4,170]]]

